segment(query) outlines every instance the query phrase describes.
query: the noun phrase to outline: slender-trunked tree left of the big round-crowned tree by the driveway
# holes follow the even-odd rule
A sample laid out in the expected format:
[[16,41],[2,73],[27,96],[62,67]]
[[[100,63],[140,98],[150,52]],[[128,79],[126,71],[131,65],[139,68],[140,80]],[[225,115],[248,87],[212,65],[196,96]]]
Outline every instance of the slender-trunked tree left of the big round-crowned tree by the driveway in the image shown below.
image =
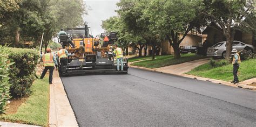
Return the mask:
[[126,29],[133,35],[145,40],[145,45],[152,46],[152,59],[155,57],[158,35],[150,30],[149,16],[144,15],[149,2],[146,1],[121,1],[117,4],[118,15],[122,19]]

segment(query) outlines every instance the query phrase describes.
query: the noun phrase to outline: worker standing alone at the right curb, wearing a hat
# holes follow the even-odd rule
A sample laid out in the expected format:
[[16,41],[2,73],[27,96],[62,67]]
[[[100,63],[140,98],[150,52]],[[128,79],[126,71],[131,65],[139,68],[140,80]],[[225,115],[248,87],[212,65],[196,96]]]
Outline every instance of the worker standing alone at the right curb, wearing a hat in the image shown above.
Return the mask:
[[239,82],[237,72],[238,72],[238,68],[239,68],[239,64],[241,63],[241,60],[240,60],[240,55],[237,52],[237,49],[234,48],[232,50],[232,53],[234,54],[233,61],[232,61],[234,80],[232,81],[232,83],[235,84]]

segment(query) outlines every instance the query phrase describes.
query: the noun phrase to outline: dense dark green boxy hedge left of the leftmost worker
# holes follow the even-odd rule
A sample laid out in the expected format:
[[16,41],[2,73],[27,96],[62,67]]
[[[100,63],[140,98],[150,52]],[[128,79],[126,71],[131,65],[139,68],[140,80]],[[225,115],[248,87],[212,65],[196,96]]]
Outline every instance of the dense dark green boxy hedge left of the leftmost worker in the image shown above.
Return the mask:
[[9,59],[15,62],[9,72],[10,93],[13,97],[28,96],[30,87],[35,80],[36,66],[39,59],[38,51],[25,48],[10,48]]

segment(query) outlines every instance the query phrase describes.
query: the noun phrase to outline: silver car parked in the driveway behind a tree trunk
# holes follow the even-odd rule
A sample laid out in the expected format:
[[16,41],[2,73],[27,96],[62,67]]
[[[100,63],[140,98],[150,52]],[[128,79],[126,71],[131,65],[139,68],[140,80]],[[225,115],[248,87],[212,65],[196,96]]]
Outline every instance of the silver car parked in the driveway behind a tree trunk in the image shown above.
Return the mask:
[[[233,48],[237,48],[238,52],[241,50],[243,53],[253,53],[255,52],[255,48],[252,45],[244,44],[240,41],[233,41]],[[207,56],[210,57],[223,57],[226,56],[226,41],[221,41],[212,47],[208,47]]]

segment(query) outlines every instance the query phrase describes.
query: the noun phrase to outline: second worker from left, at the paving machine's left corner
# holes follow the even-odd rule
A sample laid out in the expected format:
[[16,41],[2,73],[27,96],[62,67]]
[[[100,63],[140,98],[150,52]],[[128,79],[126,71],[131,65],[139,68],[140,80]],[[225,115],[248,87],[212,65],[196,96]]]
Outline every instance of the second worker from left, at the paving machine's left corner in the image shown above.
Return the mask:
[[69,52],[65,50],[65,47],[60,47],[57,53],[58,60],[60,61],[60,68],[62,69],[62,73],[66,73],[66,68],[68,66],[68,55]]

